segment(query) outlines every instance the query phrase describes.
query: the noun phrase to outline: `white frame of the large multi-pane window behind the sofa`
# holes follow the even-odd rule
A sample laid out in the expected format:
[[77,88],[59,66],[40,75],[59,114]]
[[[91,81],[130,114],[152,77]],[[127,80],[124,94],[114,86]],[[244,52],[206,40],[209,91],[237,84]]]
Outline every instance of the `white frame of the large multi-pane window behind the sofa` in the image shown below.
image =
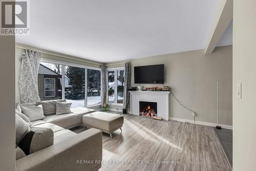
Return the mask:
[[[102,86],[102,81],[101,81],[101,68],[97,67],[91,67],[91,66],[86,66],[86,65],[79,65],[76,63],[71,63],[71,62],[63,62],[59,60],[53,60],[53,59],[47,59],[47,58],[41,58],[40,62],[46,62],[46,63],[54,63],[54,64],[59,64],[61,65],[62,71],[61,71],[61,84],[62,84],[62,99],[65,99],[65,67],[77,67],[77,68],[84,68],[85,69],[85,99],[84,99],[84,107],[92,107],[92,106],[100,106],[100,104],[94,104],[94,105],[87,105],[87,69],[90,70],[97,70],[100,71],[100,86]],[[55,88],[56,89],[56,88]],[[54,97],[54,96],[52,96]],[[100,93],[100,98],[102,97],[102,94]]]

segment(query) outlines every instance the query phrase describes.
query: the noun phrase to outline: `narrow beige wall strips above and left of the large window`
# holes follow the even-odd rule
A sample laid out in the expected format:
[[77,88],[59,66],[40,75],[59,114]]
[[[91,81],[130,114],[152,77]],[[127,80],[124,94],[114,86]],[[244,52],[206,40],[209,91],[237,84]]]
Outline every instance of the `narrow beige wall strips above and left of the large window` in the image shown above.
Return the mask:
[[[41,53],[41,58],[45,58],[45,59],[62,61],[62,62],[67,62],[67,63],[74,63],[76,65],[90,66],[90,67],[96,67],[96,68],[100,68],[101,65],[103,65],[103,63],[100,63],[100,62],[95,62],[95,63],[99,63],[99,65],[97,65],[97,64],[94,63],[94,61],[89,61],[89,60],[87,61],[85,59],[84,59],[84,61],[81,61],[81,60],[83,60],[81,58],[77,58],[77,57],[69,56],[69,55],[63,55],[63,54],[60,54],[60,53],[51,52],[51,51],[47,51],[47,50],[43,50],[43,49],[39,49],[39,48],[27,46],[27,45],[16,44],[16,46],[22,47],[22,48],[27,48],[27,49],[37,50],[37,51],[40,51],[40,52],[46,52],[46,53]],[[16,63],[15,64],[15,100],[16,100],[16,102],[20,102],[18,77],[19,77],[19,72],[20,72],[19,57],[22,54],[22,51],[23,51],[22,48],[15,48],[15,63]],[[50,54],[48,54],[48,53],[50,53]],[[56,54],[56,55],[54,55],[54,54]],[[64,58],[64,57],[61,57],[61,56],[58,56],[58,55],[68,56],[72,59]]]

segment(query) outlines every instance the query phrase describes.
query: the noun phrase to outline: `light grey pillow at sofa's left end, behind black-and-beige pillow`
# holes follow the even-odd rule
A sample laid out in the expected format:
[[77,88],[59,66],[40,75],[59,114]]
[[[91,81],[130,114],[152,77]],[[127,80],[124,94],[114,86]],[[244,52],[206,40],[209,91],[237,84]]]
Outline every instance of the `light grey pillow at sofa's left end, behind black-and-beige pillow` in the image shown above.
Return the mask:
[[30,132],[30,124],[15,114],[15,127],[16,127],[16,144],[23,139],[23,137]]

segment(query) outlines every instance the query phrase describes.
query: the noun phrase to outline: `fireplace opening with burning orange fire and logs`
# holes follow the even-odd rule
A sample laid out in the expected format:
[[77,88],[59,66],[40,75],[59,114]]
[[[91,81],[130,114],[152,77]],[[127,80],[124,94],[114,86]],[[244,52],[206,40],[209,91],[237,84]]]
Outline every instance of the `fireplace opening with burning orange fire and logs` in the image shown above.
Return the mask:
[[140,115],[157,116],[157,102],[140,101]]

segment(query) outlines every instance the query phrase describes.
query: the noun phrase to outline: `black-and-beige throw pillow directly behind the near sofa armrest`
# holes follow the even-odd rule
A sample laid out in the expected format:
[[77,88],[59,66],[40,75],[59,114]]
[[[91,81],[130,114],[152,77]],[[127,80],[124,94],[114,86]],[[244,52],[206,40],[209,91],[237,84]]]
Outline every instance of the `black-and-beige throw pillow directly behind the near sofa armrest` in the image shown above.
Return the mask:
[[26,155],[53,145],[53,130],[50,127],[31,127],[18,146]]

